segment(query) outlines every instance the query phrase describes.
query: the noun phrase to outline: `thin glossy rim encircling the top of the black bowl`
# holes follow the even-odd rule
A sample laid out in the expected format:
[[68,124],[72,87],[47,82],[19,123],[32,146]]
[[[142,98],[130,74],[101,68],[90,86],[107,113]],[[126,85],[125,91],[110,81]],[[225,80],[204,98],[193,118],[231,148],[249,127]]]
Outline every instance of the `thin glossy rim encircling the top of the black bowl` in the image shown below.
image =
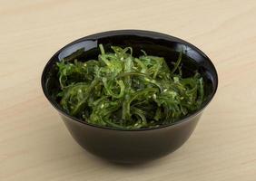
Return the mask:
[[[54,57],[56,57],[56,55],[58,55],[60,52],[64,51],[65,48],[74,45],[75,43],[80,43],[86,40],[90,40],[90,39],[100,39],[103,37],[110,37],[110,36],[116,36],[116,35],[134,35],[134,36],[144,36],[147,38],[152,38],[152,39],[162,39],[165,41],[170,41],[170,42],[179,42],[179,43],[183,43],[185,45],[188,45],[190,48],[192,48],[194,51],[198,52],[199,54],[201,54],[203,57],[205,57],[205,59],[210,63],[210,65],[212,66],[212,70],[214,71],[213,73],[213,77],[215,78],[216,82],[215,82],[215,86],[212,86],[213,90],[212,90],[212,94],[211,96],[208,98],[208,100],[202,105],[202,108],[200,108],[199,110],[194,111],[192,114],[179,119],[176,122],[172,122],[166,125],[162,125],[156,128],[143,128],[143,129],[119,129],[119,128],[112,128],[112,127],[104,127],[104,126],[99,126],[99,125],[94,125],[92,123],[86,122],[84,120],[81,119],[77,119],[74,116],[71,116],[70,114],[66,113],[63,109],[61,109],[61,107],[58,105],[58,103],[54,102],[54,100],[52,100],[51,96],[49,95],[48,91],[46,90],[46,86],[44,84],[44,75],[48,72],[47,71],[47,67],[51,64],[51,62],[54,61]],[[157,38],[156,38],[157,37]],[[199,48],[197,48],[196,46],[194,46],[192,43],[188,43],[180,38],[174,37],[172,35],[166,34],[166,33],[158,33],[158,32],[154,32],[154,31],[148,31],[148,30],[137,30],[137,29],[125,29],[125,30],[112,30],[112,31],[105,31],[105,32],[101,32],[101,33],[94,33],[94,34],[90,34],[90,35],[86,35],[82,38],[79,38],[77,40],[74,40],[71,43],[67,43],[66,45],[64,45],[63,48],[61,48],[59,51],[55,52],[54,55],[50,58],[50,60],[44,65],[44,70],[42,72],[41,75],[41,86],[44,92],[44,96],[46,97],[46,99],[52,104],[52,106],[54,107],[55,110],[57,110],[59,113],[61,113],[62,115],[64,115],[65,117],[72,119],[74,121],[78,121],[84,125],[88,125],[90,127],[94,127],[97,129],[110,129],[110,130],[119,130],[119,131],[146,131],[146,130],[153,130],[153,129],[164,129],[166,127],[172,127],[172,126],[177,126],[180,125],[186,121],[189,121],[190,119],[198,116],[199,114],[202,113],[202,110],[204,110],[209,103],[212,101],[214,95],[216,94],[216,91],[218,89],[218,83],[219,83],[219,79],[218,79],[218,72],[216,71],[215,66],[213,65],[211,59],[204,53],[202,52]]]

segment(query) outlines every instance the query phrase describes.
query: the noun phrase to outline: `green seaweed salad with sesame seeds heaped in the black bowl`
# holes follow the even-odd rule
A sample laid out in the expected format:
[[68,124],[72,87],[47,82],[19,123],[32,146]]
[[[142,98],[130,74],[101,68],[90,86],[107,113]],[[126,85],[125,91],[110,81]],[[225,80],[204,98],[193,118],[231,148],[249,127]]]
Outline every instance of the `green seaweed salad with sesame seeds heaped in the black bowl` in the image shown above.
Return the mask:
[[170,69],[162,57],[111,48],[105,52],[100,44],[98,60],[57,63],[57,96],[68,114],[97,126],[143,129],[176,122],[202,106],[202,76],[182,77],[182,52]]

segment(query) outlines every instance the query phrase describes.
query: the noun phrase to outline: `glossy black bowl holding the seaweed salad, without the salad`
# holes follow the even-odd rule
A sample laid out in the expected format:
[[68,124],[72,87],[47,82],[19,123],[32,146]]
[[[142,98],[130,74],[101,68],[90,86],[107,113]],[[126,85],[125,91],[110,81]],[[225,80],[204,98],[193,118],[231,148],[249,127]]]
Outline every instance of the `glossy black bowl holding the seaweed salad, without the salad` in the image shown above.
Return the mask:
[[[194,71],[199,71],[205,82],[206,100],[201,110],[170,125],[156,129],[132,130],[94,126],[68,115],[59,106],[54,96],[55,92],[60,89],[55,63],[81,49],[84,52],[78,59],[97,58],[99,54],[97,47],[100,43],[104,44],[105,49],[109,49],[111,45],[131,46],[134,56],[141,54],[141,50],[144,50],[148,54],[164,57],[169,66],[172,66],[171,60],[177,60],[178,52],[183,51],[182,71],[184,75],[189,76]],[[217,86],[217,72],[210,59],[201,50],[179,38],[141,30],[95,33],[69,43],[47,62],[42,75],[44,95],[58,110],[73,138],[94,155],[119,163],[145,162],[165,156],[180,148],[191,136],[202,115],[202,110],[212,100]]]

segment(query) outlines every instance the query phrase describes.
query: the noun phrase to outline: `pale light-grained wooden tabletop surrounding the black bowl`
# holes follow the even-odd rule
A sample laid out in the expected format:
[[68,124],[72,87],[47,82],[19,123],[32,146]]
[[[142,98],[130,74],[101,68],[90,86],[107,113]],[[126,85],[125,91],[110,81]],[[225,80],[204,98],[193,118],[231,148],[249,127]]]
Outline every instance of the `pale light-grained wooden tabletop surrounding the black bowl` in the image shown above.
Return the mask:
[[[1,181],[256,180],[255,0],[0,0],[0,24]],[[141,166],[106,163],[80,148],[40,85],[54,52],[114,29],[181,37],[219,72],[219,90],[192,137]]]

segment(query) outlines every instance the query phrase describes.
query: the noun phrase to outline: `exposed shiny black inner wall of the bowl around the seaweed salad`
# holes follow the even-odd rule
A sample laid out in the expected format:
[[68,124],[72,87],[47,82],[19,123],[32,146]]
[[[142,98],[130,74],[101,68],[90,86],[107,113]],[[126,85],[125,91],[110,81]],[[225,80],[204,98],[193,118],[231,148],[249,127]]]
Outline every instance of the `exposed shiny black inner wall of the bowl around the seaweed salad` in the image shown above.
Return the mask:
[[126,30],[96,33],[64,46],[64,48],[54,54],[44,68],[42,75],[44,94],[58,110],[62,110],[62,108],[55,97],[56,92],[60,90],[55,63],[72,56],[74,53],[78,54],[78,61],[97,60],[100,53],[98,49],[100,43],[103,43],[106,52],[111,51],[112,45],[121,47],[131,46],[133,47],[133,56],[135,57],[143,54],[141,50],[150,55],[164,57],[171,69],[173,66],[172,62],[177,61],[179,52],[182,51],[183,76],[191,76],[195,71],[198,71],[202,74],[205,82],[204,91],[206,99],[202,104],[202,109],[212,100],[217,90],[218,77],[212,62],[191,43],[170,35],[147,31]]

